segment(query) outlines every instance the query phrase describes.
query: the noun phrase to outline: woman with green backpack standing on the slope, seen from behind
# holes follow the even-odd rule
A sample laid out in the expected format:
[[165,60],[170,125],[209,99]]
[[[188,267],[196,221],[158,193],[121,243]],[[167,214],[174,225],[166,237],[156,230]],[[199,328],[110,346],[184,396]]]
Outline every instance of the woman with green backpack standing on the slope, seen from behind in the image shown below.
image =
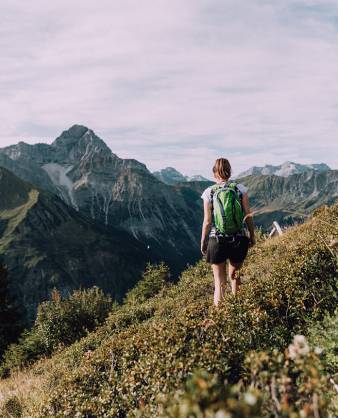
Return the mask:
[[[231,290],[235,295],[240,279],[236,272],[242,267],[250,245],[255,244],[254,225],[250,214],[248,189],[243,184],[229,181],[231,165],[226,158],[218,158],[213,167],[216,184],[202,193],[204,220],[201,252],[211,264],[215,279],[214,304],[224,299],[226,261],[229,260]],[[247,224],[250,238],[243,231]]]

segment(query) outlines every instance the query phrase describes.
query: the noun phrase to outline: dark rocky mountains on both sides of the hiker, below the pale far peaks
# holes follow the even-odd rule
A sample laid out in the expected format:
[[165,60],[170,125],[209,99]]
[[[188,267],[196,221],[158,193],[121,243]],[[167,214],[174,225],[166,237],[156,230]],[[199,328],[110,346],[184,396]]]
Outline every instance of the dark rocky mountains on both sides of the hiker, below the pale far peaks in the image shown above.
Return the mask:
[[[200,258],[200,195],[212,184],[203,177],[173,168],[152,174],[81,125],[51,145],[1,148],[0,167],[0,261],[29,319],[53,287],[97,284],[121,299],[147,261],[163,260],[175,275]],[[264,228],[338,199],[336,170],[239,181]]]

